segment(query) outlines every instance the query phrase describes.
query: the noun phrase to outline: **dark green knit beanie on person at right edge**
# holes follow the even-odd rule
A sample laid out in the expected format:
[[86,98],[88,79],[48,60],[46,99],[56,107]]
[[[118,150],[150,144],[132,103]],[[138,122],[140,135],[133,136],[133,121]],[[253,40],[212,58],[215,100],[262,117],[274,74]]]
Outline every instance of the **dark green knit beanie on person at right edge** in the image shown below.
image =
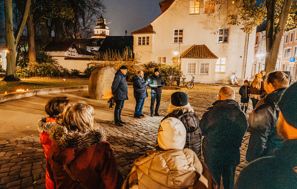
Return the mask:
[[288,124],[297,129],[297,83],[292,84],[283,93],[278,107]]

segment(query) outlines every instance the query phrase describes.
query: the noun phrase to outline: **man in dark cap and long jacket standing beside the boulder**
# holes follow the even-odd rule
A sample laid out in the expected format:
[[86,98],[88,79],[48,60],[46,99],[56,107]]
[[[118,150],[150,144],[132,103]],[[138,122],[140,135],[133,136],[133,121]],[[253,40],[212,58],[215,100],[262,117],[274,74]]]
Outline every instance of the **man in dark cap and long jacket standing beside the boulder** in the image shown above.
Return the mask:
[[124,107],[124,101],[128,100],[128,85],[126,81],[127,67],[122,65],[121,68],[116,72],[111,92],[116,101],[116,107],[114,109],[114,123],[117,126],[123,126],[126,122],[121,120],[121,112]]

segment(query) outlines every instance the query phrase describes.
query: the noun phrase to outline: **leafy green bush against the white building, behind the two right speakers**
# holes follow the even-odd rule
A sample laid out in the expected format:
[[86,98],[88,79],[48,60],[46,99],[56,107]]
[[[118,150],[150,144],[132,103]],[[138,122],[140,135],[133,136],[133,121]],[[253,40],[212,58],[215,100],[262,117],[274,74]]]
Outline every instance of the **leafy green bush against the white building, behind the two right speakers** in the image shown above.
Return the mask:
[[159,73],[162,75],[166,85],[173,85],[176,77],[180,77],[182,74],[177,65],[165,65],[152,61],[142,66],[145,68],[143,70],[145,79],[149,79],[154,74],[154,69],[159,68]]

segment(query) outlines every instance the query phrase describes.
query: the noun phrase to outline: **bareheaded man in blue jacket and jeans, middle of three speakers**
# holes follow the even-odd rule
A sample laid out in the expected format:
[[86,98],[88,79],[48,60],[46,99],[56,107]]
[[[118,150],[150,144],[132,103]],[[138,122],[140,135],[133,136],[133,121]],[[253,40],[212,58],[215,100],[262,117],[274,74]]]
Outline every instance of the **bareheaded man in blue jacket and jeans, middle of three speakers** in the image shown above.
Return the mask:
[[144,81],[143,76],[143,71],[138,71],[138,74],[136,74],[132,79],[134,98],[136,100],[134,118],[140,118],[144,116],[142,114],[142,108],[145,98],[148,97],[148,93],[146,91],[146,85],[148,85],[148,82]]

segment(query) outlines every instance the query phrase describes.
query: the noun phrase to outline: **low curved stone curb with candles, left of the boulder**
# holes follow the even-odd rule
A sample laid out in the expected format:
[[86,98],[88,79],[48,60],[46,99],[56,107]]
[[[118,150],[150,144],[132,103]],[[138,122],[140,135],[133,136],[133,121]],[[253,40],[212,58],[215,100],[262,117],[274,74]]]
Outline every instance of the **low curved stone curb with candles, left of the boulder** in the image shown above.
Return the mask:
[[25,91],[23,93],[14,92],[9,94],[0,94],[0,103],[10,101],[10,100],[27,98],[27,97],[36,96],[36,95],[64,93],[64,92],[72,92],[72,91],[80,91],[80,90],[88,90],[88,85],[36,89],[36,90]]

